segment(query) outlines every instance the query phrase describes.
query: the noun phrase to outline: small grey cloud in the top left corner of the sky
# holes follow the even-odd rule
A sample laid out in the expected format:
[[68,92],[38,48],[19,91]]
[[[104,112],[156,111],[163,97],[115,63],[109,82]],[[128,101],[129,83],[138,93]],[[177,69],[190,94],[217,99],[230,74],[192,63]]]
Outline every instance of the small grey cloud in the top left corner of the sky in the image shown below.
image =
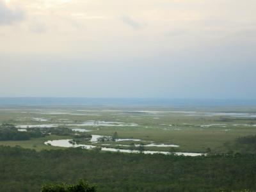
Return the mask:
[[24,19],[24,10],[10,8],[0,0],[0,25],[13,24]]

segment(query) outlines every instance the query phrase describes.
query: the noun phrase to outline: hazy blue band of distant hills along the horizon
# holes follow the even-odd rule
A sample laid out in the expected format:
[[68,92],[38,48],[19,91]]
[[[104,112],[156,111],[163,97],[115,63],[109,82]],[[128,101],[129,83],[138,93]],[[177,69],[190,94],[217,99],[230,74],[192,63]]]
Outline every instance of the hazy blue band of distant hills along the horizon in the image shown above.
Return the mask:
[[125,98],[72,98],[72,97],[0,97],[0,106],[256,106],[256,99],[125,99]]

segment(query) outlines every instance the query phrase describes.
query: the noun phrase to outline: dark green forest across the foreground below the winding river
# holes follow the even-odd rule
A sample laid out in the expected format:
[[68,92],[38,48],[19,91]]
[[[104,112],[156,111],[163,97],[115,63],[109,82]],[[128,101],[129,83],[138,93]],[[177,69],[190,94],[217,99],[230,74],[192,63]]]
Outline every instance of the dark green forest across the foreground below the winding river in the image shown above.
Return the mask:
[[97,185],[97,191],[241,191],[256,189],[256,156],[164,156],[0,147],[1,191],[40,191],[47,183]]

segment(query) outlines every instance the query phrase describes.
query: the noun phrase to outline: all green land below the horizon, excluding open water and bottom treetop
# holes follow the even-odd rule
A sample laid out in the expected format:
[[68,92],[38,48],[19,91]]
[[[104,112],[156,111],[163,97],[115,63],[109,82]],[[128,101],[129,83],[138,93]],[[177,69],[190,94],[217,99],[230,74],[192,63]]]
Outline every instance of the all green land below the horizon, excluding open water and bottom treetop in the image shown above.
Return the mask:
[[[107,112],[99,108],[83,110],[87,108],[51,109],[52,113],[49,109],[0,110],[0,124],[3,124],[0,126],[0,145],[3,145],[0,147],[0,191],[40,191],[43,184],[57,184],[53,184],[54,187],[59,186],[58,183],[70,184],[79,179],[97,184],[99,191],[256,189],[254,117],[207,113],[189,116],[188,113],[173,112],[173,109],[158,108],[143,109],[144,112],[142,109],[120,108]],[[255,113],[256,108],[184,110]],[[58,113],[63,111],[67,113]],[[91,124],[86,125],[86,122]],[[102,125],[102,122],[109,124]],[[124,125],[119,126],[122,122]],[[128,126],[129,123],[135,125]],[[58,127],[42,128],[44,124]],[[34,127],[20,132],[14,125]],[[77,131],[72,131],[75,128]],[[92,134],[102,136],[99,142],[90,142]],[[25,135],[29,136],[29,140],[22,139]],[[118,141],[127,138],[138,140]],[[48,140],[66,139],[97,147],[85,150],[44,144]],[[179,147],[146,146],[150,143]],[[102,147],[136,149],[140,152],[207,152],[209,156],[123,154],[100,151]],[[67,188],[67,185],[59,187]]]

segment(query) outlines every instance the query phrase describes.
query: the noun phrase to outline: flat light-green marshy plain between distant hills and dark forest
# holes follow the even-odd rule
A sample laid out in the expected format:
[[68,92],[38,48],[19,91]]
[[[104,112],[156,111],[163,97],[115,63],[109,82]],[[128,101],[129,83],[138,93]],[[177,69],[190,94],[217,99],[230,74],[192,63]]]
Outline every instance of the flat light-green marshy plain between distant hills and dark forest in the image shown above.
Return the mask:
[[[196,111],[194,113],[192,111]],[[221,148],[224,143],[241,136],[256,134],[256,117],[243,114],[255,113],[256,108],[100,108],[100,107],[58,107],[58,108],[1,108],[0,123],[15,125],[59,124],[70,128],[92,130],[92,134],[119,138],[134,138],[154,143],[175,144],[177,152],[205,152]],[[216,113],[218,112],[218,113]],[[227,115],[226,113],[231,115]],[[238,115],[237,115],[238,114]],[[242,114],[242,115],[241,115]],[[38,122],[35,118],[46,119]],[[88,121],[134,123],[138,126],[76,126]],[[36,150],[58,148],[44,145],[44,141],[67,137],[47,136],[29,141],[1,141],[0,145],[20,145]],[[113,144],[113,142],[106,142]],[[105,144],[106,144],[105,143]],[[134,141],[120,144],[130,145]],[[140,143],[140,142],[139,142]],[[125,148],[125,147],[120,147]],[[148,147],[148,150],[168,151],[168,147]]]

